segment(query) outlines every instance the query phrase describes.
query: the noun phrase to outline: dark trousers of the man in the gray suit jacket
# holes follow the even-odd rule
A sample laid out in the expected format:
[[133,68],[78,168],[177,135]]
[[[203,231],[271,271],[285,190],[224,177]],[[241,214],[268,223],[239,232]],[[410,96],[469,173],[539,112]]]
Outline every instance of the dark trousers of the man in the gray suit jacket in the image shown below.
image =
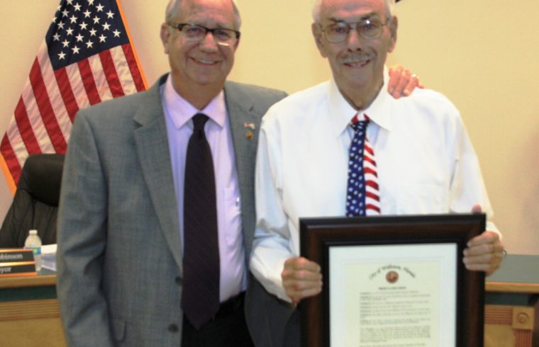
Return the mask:
[[243,310],[243,294],[221,304],[219,312],[197,330],[184,316],[182,347],[254,347]]

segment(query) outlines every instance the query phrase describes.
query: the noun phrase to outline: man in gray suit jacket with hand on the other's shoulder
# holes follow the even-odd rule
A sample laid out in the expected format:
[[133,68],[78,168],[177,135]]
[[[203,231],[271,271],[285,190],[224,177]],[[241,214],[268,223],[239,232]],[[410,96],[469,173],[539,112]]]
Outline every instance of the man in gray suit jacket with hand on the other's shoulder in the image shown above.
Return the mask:
[[[146,92],[77,114],[57,240],[68,345],[252,346],[243,302],[253,300],[246,264],[258,129],[285,93],[226,82],[239,28],[231,0],[170,1],[161,28],[170,74]],[[221,266],[221,305],[202,326],[191,324],[182,306],[183,175],[196,113],[209,116]]]

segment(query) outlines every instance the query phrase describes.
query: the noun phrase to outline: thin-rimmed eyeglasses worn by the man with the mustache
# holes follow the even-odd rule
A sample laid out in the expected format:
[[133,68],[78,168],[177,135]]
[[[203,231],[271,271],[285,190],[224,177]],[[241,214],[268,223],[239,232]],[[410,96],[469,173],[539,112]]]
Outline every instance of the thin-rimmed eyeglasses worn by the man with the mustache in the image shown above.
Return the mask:
[[348,38],[348,33],[350,33],[350,30],[355,25],[355,30],[362,38],[365,40],[374,40],[382,35],[384,25],[388,23],[389,19],[387,19],[386,23],[382,23],[376,19],[365,19],[354,23],[337,22],[326,26],[326,28],[321,28],[321,30],[326,40],[332,43],[340,43]]

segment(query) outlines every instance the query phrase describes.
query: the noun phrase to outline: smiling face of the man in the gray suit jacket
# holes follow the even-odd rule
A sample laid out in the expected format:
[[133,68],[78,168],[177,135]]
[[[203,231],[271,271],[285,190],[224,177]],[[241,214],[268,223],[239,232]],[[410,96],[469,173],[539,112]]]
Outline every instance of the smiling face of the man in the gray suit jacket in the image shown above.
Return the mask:
[[[172,21],[206,28],[238,29],[234,25],[230,0],[183,0]],[[180,94],[199,87],[223,89],[234,64],[238,41],[233,45],[218,45],[208,33],[200,42],[192,42],[166,23],[161,26],[161,40],[169,56],[172,83]]]

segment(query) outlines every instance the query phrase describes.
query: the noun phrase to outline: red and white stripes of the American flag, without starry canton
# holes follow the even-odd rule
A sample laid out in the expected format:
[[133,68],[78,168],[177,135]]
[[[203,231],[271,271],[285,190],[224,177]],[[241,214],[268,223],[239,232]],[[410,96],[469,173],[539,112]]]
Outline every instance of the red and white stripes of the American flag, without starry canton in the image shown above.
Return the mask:
[[41,50],[43,54],[38,55],[30,69],[0,145],[15,183],[29,154],[65,153],[72,122],[80,108],[145,90],[130,44],[56,71],[52,70],[45,42],[43,45],[45,50]]

